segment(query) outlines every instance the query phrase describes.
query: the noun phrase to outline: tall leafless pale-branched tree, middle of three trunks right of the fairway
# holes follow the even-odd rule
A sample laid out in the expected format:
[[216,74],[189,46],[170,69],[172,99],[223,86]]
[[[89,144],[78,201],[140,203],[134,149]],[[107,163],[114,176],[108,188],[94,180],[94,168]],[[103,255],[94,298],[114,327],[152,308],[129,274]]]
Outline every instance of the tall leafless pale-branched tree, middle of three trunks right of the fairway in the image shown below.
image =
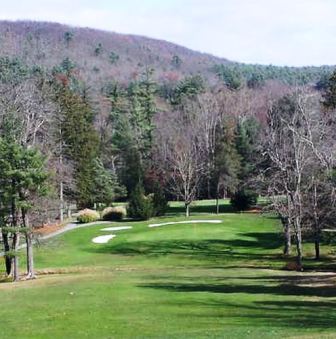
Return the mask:
[[[293,227],[299,269],[303,257],[305,177],[312,154],[307,142],[309,115],[313,111],[311,100],[309,93],[296,91],[273,105],[268,114],[265,150],[271,160],[267,169],[269,188],[274,199],[285,197],[275,207],[287,219],[286,227]],[[290,234],[290,230],[286,234]]]

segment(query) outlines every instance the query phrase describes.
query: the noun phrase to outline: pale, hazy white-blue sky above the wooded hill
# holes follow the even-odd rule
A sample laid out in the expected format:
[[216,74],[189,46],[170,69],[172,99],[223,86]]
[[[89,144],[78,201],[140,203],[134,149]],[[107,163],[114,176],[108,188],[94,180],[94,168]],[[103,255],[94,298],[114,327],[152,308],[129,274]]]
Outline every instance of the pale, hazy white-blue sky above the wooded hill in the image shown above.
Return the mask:
[[1,20],[164,39],[233,61],[336,64],[336,0],[0,0]]

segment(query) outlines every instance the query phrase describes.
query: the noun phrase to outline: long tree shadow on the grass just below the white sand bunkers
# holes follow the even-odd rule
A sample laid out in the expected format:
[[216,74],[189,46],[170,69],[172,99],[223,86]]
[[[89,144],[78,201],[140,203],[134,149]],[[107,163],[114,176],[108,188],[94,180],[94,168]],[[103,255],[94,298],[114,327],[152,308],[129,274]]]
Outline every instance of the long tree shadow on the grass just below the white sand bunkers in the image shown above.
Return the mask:
[[[265,262],[266,266],[269,266],[270,262],[282,260],[281,251],[278,254],[266,251],[279,247],[280,239],[276,233],[245,233],[244,235],[250,239],[111,242],[105,246],[90,247],[87,250],[95,253],[127,256],[159,257],[177,255],[207,261],[210,264],[211,261],[214,264],[217,259],[222,260],[223,263],[242,261],[242,264],[251,260],[251,264],[255,264],[255,267],[262,266],[262,268],[265,267]],[[249,251],[246,251],[246,249],[249,249]]]

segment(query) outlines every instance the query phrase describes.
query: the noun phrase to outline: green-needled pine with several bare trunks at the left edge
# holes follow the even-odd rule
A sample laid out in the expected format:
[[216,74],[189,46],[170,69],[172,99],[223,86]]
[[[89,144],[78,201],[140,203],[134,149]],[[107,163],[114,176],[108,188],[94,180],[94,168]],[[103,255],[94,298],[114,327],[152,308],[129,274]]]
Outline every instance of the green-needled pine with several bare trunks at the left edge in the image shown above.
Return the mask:
[[[34,197],[46,194],[45,160],[36,149],[0,139],[0,197],[1,227],[4,238],[13,235],[11,248],[5,242],[6,271],[11,273],[9,256],[13,256],[14,281],[19,279],[17,255],[20,233],[25,234],[27,246],[27,277],[34,278],[32,225],[29,211]],[[9,251],[12,250],[12,253]]]

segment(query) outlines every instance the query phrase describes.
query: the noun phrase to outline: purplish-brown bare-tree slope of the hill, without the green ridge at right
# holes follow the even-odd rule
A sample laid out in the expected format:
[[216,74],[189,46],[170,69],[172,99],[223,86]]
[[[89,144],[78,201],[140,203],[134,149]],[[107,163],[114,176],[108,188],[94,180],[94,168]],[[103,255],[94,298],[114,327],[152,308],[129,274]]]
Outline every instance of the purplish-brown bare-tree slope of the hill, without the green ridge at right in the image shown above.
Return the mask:
[[227,61],[162,40],[57,23],[2,21],[0,36],[0,56],[47,68],[69,58],[90,84],[111,78],[128,82],[146,66],[155,69],[157,80],[190,74],[214,80],[211,67]]

